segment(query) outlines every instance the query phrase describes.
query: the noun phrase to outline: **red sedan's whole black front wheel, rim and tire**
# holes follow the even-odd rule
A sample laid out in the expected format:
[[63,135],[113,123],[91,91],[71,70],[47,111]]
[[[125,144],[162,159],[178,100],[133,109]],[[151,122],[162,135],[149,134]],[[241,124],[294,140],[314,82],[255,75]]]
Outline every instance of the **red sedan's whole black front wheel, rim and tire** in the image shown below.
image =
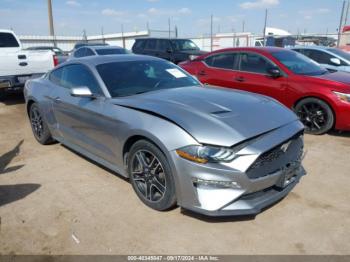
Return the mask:
[[294,108],[294,112],[305,126],[305,133],[322,135],[332,129],[334,113],[331,107],[318,98],[305,98]]

